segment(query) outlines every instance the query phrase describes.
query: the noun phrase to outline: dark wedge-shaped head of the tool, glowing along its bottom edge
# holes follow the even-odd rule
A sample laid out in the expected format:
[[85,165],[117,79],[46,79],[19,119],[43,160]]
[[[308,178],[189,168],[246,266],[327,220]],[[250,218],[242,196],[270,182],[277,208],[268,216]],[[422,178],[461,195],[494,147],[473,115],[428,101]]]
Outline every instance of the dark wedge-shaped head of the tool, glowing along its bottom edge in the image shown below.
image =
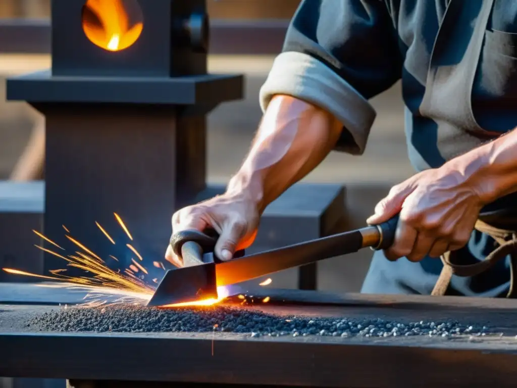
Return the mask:
[[216,264],[177,268],[165,273],[147,306],[217,299]]

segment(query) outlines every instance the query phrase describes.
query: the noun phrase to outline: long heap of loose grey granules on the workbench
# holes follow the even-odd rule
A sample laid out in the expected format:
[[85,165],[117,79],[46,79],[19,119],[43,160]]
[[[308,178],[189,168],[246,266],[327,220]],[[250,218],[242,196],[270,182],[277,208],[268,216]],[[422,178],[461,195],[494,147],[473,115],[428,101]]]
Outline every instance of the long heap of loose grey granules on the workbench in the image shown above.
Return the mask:
[[490,334],[485,326],[457,321],[396,322],[384,319],[277,316],[238,307],[158,309],[134,305],[57,309],[31,319],[27,326],[60,332],[230,332],[253,337],[333,336],[397,337]]

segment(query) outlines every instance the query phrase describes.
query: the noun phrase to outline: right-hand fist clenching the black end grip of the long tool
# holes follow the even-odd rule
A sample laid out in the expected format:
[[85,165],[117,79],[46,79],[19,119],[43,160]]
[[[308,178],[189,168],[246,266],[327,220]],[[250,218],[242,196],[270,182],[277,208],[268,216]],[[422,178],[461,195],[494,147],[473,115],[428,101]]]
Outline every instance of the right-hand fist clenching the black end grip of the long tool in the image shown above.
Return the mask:
[[369,224],[400,212],[394,243],[384,251],[388,260],[436,258],[468,242],[484,203],[466,175],[447,164],[426,170],[394,186],[377,204]]

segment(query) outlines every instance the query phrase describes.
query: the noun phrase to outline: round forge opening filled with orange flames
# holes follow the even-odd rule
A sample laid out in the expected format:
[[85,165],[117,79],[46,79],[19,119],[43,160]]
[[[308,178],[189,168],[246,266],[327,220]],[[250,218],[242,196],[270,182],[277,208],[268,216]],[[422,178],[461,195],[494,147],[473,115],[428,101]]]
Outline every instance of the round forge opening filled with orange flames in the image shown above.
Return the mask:
[[81,20],[89,41],[108,51],[131,47],[144,28],[137,0],[87,0]]

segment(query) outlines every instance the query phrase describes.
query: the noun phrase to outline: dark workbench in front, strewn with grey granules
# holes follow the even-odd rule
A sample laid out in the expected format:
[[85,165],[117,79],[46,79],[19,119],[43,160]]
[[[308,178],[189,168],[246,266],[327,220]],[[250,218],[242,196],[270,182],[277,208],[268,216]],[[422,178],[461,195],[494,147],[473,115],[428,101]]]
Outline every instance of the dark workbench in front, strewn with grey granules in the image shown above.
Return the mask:
[[[257,338],[249,333],[220,332],[41,332],[27,327],[26,322],[64,306],[15,302],[0,305],[0,376],[276,386],[401,386],[401,381],[405,386],[515,385],[516,301],[272,289],[255,294],[258,292],[271,296],[271,302],[247,309],[285,316],[398,322],[457,320],[486,325],[493,334]],[[2,303],[7,303],[6,299],[0,292]]]

